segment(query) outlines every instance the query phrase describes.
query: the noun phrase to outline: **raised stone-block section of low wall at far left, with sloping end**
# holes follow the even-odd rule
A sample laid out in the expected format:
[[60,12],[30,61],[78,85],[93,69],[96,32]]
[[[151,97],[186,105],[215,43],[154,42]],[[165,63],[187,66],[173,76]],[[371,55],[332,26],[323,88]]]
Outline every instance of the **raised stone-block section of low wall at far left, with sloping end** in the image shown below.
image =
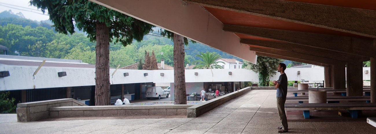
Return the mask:
[[49,109],[53,107],[87,106],[75,99],[57,99],[49,101],[38,101],[17,104],[17,121],[18,122],[33,122],[39,119],[50,117]]

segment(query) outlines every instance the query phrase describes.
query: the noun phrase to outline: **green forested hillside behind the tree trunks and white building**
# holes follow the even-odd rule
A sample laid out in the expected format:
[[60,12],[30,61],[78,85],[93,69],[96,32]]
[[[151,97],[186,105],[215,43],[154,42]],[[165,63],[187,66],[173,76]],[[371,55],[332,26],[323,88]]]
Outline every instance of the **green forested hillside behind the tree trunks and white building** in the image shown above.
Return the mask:
[[[79,30],[73,35],[58,34],[49,20],[33,21],[14,14],[11,11],[0,13],[0,45],[8,47],[8,55],[35,56],[45,58],[79,59],[82,62],[95,64],[95,45]],[[136,63],[144,59],[145,51],[156,54],[157,62],[163,58],[165,64],[173,65],[173,42],[158,34],[156,27],[153,33],[144,36],[143,41],[133,41],[126,47],[110,43],[110,67],[120,67]],[[185,47],[185,62],[197,60],[200,52],[217,52],[222,58],[236,58],[227,53],[213,49],[200,43],[190,43]],[[162,55],[163,53],[163,55]],[[243,61],[240,58],[236,58]]]

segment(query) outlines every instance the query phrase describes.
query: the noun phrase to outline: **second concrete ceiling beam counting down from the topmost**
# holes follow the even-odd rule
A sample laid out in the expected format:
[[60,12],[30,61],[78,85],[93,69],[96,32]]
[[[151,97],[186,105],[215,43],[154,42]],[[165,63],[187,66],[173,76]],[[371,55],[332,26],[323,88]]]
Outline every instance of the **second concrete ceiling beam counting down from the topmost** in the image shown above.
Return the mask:
[[223,26],[224,31],[300,44],[303,46],[326,49],[352,55],[372,57],[376,52],[373,40],[343,37],[336,35],[314,34],[288,30],[267,29],[260,27],[228,25]]

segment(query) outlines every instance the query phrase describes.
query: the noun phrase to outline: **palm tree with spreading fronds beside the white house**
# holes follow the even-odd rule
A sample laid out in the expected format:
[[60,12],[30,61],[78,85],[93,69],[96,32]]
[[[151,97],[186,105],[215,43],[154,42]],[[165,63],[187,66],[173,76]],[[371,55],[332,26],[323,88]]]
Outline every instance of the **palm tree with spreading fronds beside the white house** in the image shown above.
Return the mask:
[[201,58],[201,60],[193,61],[192,64],[196,64],[193,69],[223,69],[222,66],[218,65],[219,62],[223,63],[222,61],[216,62],[215,60],[222,58],[216,52],[206,52],[201,53],[201,55],[196,55],[197,57]]

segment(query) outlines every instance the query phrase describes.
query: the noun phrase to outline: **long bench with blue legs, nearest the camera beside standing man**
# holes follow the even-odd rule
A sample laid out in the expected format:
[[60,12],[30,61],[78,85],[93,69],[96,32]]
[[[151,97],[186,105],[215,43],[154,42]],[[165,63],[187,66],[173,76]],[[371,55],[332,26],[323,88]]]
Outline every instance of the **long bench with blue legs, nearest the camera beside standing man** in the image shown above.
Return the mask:
[[376,110],[375,103],[297,103],[285,104],[285,110],[303,111],[305,119],[309,119],[310,110],[347,110],[352,118],[358,118],[359,110]]

